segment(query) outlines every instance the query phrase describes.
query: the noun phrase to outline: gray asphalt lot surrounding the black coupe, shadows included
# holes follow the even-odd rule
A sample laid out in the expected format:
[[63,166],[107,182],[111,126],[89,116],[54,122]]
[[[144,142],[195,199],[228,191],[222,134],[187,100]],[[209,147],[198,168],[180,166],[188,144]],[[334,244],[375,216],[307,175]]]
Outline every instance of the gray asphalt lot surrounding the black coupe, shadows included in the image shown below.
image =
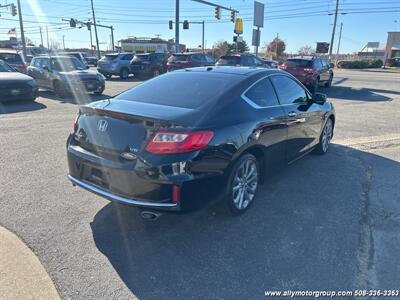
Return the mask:
[[[105,96],[139,84],[107,81]],[[335,70],[325,156],[268,178],[246,214],[156,222],[67,180],[76,101],[0,104],[0,224],[65,299],[261,299],[265,290],[399,289],[400,73]]]

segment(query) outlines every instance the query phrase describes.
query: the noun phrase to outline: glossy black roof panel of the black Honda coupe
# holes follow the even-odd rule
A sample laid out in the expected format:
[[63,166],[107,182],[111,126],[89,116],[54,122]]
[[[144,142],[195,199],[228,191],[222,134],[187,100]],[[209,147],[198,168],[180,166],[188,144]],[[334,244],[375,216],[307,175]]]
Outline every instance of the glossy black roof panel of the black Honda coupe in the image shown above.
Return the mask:
[[251,76],[259,73],[265,72],[266,75],[273,73],[283,73],[283,71],[277,69],[268,69],[260,67],[233,67],[233,66],[209,66],[209,67],[196,67],[181,69],[174,72],[210,72],[214,74],[232,74],[232,75],[242,75]]

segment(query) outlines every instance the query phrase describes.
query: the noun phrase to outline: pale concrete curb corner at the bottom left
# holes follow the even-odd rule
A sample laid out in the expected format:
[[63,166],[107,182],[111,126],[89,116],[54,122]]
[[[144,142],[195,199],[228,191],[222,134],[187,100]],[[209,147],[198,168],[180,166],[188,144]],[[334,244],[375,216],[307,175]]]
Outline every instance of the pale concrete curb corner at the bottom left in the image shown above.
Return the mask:
[[36,255],[0,226],[0,299],[60,299]]

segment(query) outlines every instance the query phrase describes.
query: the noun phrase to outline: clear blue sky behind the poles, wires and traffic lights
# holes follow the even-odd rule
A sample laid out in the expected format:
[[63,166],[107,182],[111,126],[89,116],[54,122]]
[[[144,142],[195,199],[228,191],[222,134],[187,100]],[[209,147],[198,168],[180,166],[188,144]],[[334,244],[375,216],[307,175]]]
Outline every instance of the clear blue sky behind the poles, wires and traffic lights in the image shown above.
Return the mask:
[[[0,4],[13,0],[0,0]],[[206,21],[206,45],[216,41],[232,40],[233,23],[229,12],[223,11],[220,21],[214,18],[214,8],[191,0],[181,0],[181,21]],[[253,29],[252,0],[212,0],[222,6],[239,10],[244,19],[244,39],[251,44]],[[317,41],[330,41],[333,16],[328,15],[335,8],[335,0],[262,0],[265,4],[265,23],[261,41],[271,41],[277,33],[287,44],[287,52],[296,52],[303,45],[315,46]],[[46,45],[46,24],[50,39],[62,45],[65,36],[66,47],[89,47],[89,31],[85,28],[70,29],[62,18],[77,18],[87,21],[92,17],[90,0],[21,0],[26,36],[40,43],[39,27],[42,26]],[[113,25],[115,40],[127,36],[161,38],[174,37],[168,29],[168,20],[175,16],[175,0],[94,0],[96,18],[100,24]],[[340,0],[342,13],[338,26],[343,22],[342,53],[359,51],[369,41],[386,42],[388,31],[400,30],[400,0]],[[0,39],[7,39],[6,32],[16,27],[18,18],[1,9]],[[396,22],[397,20],[397,22]],[[338,37],[335,40],[335,45]],[[181,43],[189,47],[201,44],[201,26],[191,25],[189,30],[180,30]],[[100,48],[106,49],[110,31],[99,29]],[[107,44],[108,43],[108,44]],[[336,46],[335,48],[336,49]]]

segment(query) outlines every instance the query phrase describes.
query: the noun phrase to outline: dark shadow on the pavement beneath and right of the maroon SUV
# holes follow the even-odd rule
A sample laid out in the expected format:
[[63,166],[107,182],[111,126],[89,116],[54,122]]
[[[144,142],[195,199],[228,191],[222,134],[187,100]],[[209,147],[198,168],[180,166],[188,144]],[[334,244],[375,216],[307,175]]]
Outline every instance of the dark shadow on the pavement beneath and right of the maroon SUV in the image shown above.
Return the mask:
[[318,92],[325,93],[329,98],[335,98],[338,100],[367,101],[367,102],[381,102],[381,101],[393,100],[393,98],[382,94],[400,95],[400,93],[393,90],[381,90],[373,88],[354,89],[348,86],[337,86],[337,85],[332,85],[330,88],[321,87]]

